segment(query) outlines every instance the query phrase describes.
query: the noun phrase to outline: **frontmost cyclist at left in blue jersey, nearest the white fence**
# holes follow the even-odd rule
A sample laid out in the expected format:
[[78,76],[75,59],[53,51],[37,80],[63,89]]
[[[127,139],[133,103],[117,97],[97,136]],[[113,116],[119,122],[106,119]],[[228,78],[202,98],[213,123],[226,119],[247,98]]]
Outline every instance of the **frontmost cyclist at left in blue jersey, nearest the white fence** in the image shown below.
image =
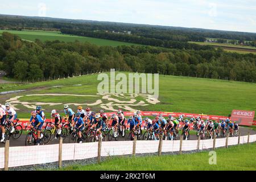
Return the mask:
[[[31,124],[31,122],[32,122],[32,124]],[[36,134],[38,135],[38,138],[36,139],[36,145],[39,146],[40,140],[41,140],[40,133],[41,133],[42,127],[44,125],[44,120],[38,113],[36,113],[36,111],[32,111],[31,118],[30,118],[30,124],[31,124],[31,128],[32,129],[34,128],[36,130]]]

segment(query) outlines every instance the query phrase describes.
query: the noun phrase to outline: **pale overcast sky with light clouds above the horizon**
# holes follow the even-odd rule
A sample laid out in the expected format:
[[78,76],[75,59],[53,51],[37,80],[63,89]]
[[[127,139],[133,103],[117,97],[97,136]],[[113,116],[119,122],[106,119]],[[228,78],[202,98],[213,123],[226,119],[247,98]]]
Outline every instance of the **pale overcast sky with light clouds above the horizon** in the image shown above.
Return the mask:
[[0,1],[0,14],[256,32],[256,0]]

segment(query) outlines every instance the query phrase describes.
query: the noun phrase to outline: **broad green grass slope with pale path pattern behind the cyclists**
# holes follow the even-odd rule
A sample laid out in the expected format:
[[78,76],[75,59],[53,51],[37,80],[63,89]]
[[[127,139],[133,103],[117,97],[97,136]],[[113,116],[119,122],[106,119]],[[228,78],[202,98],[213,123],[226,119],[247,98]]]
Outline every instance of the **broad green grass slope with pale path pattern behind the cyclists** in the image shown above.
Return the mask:
[[[126,73],[128,74],[128,73]],[[81,104],[86,107],[86,104],[92,104],[97,100],[101,100],[102,104],[108,104],[102,96],[97,96],[97,75],[80,76],[66,78],[53,81],[36,82],[34,84],[18,85],[18,84],[1,84],[0,91],[26,89],[25,92],[16,94],[0,95],[0,103],[5,103],[6,100],[15,96],[23,96],[19,101],[27,102],[53,102],[60,103],[55,106],[42,105],[46,109],[47,118],[52,109],[57,109],[63,114],[63,104],[70,104],[73,110],[76,110],[72,103]],[[75,86],[81,84],[81,86]],[[61,87],[53,87],[53,86]],[[171,86],[170,86],[171,85]],[[143,101],[148,105],[138,104],[129,105],[132,109],[144,111],[174,111],[184,113],[197,114],[214,114],[228,115],[233,109],[238,110],[255,110],[256,109],[256,84],[249,82],[235,82],[225,80],[214,80],[207,78],[193,78],[181,76],[159,76],[159,98],[160,103],[154,105],[145,101],[141,96],[135,97],[139,101]],[[27,94],[82,94],[92,95],[95,97],[77,97],[77,96],[27,96]],[[118,98],[112,96],[112,98]],[[119,98],[121,101],[127,101],[127,98]],[[112,104],[117,104],[113,102]],[[34,108],[34,104],[28,104]],[[124,104],[127,105],[127,104]],[[18,118],[30,117],[32,109],[27,108],[22,104],[15,104],[19,110]],[[102,109],[100,104],[90,106],[92,110],[98,111]],[[119,106],[114,106],[118,109]],[[105,111],[111,111],[104,109]],[[126,109],[123,109],[126,110]]]

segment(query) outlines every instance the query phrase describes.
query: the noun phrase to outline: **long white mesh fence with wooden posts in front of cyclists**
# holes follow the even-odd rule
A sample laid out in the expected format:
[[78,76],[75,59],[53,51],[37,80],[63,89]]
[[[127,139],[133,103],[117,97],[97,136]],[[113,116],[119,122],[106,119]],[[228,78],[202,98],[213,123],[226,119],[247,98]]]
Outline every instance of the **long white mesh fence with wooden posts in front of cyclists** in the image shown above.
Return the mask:
[[179,152],[182,151],[200,151],[205,149],[215,149],[218,147],[226,147],[250,143],[256,141],[256,135],[246,135],[238,137],[226,137],[207,140],[137,140],[133,141],[115,141],[115,142],[98,142],[91,143],[65,143],[62,138],[59,144],[43,145],[43,146],[22,146],[9,147],[9,140],[6,146],[0,148],[0,168],[8,170],[9,167],[28,166],[34,164],[45,164],[62,162],[65,160],[81,160],[97,158],[100,162],[101,156],[120,156],[135,155],[162,152]]

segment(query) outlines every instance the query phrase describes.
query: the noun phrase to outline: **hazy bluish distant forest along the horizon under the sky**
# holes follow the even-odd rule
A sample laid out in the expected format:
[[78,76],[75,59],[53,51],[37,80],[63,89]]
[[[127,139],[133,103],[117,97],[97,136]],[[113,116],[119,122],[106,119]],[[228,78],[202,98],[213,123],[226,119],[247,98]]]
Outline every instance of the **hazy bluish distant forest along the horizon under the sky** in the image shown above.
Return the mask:
[[112,34],[127,34],[134,36],[154,38],[159,40],[171,40],[179,42],[203,42],[205,38],[234,39],[243,41],[255,41],[256,34],[249,32],[233,32],[219,30],[205,30],[201,28],[183,28],[170,26],[151,26],[145,24],[98,22],[92,20],[73,20],[42,18],[30,16],[0,15],[0,27],[13,30],[46,29],[60,30],[69,28],[83,30],[90,33],[95,31],[107,31]]

